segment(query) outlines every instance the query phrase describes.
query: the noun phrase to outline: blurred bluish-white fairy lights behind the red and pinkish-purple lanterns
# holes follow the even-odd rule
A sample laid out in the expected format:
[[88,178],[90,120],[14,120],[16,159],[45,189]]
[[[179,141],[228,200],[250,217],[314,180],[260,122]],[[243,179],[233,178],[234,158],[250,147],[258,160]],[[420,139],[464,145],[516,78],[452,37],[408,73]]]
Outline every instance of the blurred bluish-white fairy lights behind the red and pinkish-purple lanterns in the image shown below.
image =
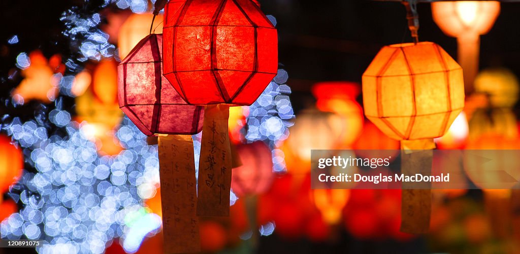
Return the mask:
[[[85,6],[89,4],[92,1],[85,1]],[[2,118],[2,129],[21,146],[26,165],[36,172],[24,170],[12,186],[9,195],[23,208],[0,224],[0,233],[7,239],[45,240],[48,244],[37,248],[40,253],[102,253],[118,238],[126,251],[133,252],[146,235],[160,230],[160,217],[149,213],[142,201],[153,197],[159,184],[157,145],[148,145],[146,136],[125,117],[114,135],[125,150],[115,156],[100,156],[88,139],[85,123],[73,122],[71,113],[61,105],[62,98],[74,96],[73,74],[81,71],[86,61],[116,57],[116,47],[99,29],[99,12],[110,4],[135,13],[148,9],[145,0],[106,0],[98,8],[90,6],[94,11],[74,7],[64,12],[63,35],[70,38],[77,55],[64,59],[65,75],[55,74],[60,81],[55,109],[48,112],[42,104],[28,121],[9,115]],[[269,19],[276,25],[274,17]],[[17,43],[18,38],[11,41]],[[30,64],[27,54],[20,52],[17,67],[24,69]],[[263,140],[269,144],[274,171],[285,170],[283,153],[276,145],[288,137],[294,119],[287,79],[287,72],[280,69],[249,106],[243,128],[246,142]],[[56,128],[62,133],[51,131]],[[200,134],[193,138],[198,165]],[[236,199],[232,194],[230,204]],[[269,222],[259,231],[269,235],[274,229],[274,223]]]

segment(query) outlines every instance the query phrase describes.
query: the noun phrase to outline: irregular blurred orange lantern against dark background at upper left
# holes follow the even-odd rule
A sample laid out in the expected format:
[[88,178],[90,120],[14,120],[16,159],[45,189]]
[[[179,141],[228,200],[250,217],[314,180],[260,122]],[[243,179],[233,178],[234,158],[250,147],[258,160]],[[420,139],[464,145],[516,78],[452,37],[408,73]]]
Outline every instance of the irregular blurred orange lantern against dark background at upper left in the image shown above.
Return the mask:
[[54,74],[61,72],[64,67],[61,64],[61,57],[55,55],[51,59],[53,64],[47,61],[42,51],[35,50],[24,60],[27,65],[19,66],[22,68],[21,74],[24,78],[11,93],[17,103],[23,104],[33,99],[44,103],[54,101],[58,95],[60,81],[60,77]]

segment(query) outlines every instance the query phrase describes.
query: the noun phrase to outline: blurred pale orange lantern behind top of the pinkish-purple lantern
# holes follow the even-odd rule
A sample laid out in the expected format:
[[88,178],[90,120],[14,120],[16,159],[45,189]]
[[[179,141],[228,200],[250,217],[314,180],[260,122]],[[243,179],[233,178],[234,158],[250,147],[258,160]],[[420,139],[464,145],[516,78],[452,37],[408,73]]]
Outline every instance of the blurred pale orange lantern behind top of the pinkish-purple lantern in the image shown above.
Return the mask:
[[153,14],[151,13],[132,14],[126,19],[123,25],[121,25],[118,35],[120,59],[124,59],[137,43],[150,33],[150,26],[152,26],[153,33],[162,33],[163,16],[157,15],[153,20],[153,24],[152,19]]

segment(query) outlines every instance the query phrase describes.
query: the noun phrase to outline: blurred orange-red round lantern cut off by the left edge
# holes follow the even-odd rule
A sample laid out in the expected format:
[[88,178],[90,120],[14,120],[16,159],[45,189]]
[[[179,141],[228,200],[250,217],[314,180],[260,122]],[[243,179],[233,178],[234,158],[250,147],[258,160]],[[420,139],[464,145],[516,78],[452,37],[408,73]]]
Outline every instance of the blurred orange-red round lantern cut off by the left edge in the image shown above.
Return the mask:
[[11,139],[0,135],[0,195],[9,191],[9,186],[22,176],[23,154],[11,144]]

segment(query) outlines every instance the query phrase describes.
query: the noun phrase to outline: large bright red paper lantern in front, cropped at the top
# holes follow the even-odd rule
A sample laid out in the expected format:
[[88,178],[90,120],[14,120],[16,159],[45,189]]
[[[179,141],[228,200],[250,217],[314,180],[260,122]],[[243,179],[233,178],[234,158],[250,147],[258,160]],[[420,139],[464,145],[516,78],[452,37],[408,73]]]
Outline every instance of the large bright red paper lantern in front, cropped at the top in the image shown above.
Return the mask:
[[277,73],[277,31],[251,0],[170,1],[164,22],[164,76],[189,104],[251,105]]

